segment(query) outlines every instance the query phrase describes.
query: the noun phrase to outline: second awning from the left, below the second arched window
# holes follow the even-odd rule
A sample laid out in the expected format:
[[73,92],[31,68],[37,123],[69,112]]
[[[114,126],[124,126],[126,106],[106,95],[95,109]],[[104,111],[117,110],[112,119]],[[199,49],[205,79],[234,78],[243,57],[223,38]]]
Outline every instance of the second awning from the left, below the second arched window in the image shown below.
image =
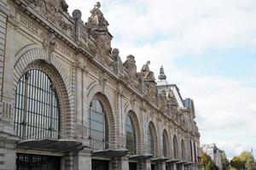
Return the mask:
[[128,150],[95,150],[92,151],[92,156],[100,156],[106,158],[125,156]]

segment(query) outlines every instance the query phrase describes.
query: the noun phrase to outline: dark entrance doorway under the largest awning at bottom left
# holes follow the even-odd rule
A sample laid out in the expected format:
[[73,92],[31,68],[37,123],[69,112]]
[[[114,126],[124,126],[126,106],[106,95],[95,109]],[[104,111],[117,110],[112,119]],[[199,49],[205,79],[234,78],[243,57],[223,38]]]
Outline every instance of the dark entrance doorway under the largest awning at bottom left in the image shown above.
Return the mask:
[[17,170],[61,170],[61,157],[17,153]]

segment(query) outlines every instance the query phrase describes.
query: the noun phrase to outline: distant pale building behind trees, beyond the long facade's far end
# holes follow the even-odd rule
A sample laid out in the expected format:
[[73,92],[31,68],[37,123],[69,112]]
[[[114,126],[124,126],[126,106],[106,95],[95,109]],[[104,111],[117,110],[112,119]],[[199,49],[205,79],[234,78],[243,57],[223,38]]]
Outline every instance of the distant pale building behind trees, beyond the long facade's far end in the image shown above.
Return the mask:
[[208,156],[211,156],[212,161],[214,161],[219,170],[223,169],[221,160],[224,150],[219,150],[216,144],[202,144],[201,152],[205,152]]

